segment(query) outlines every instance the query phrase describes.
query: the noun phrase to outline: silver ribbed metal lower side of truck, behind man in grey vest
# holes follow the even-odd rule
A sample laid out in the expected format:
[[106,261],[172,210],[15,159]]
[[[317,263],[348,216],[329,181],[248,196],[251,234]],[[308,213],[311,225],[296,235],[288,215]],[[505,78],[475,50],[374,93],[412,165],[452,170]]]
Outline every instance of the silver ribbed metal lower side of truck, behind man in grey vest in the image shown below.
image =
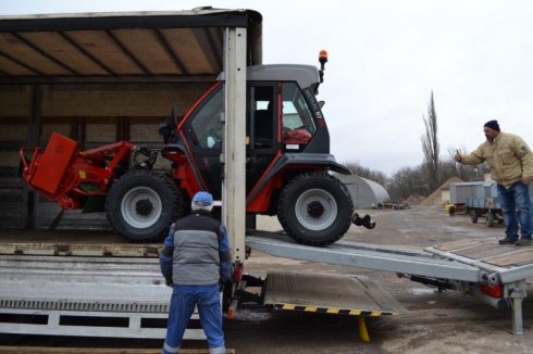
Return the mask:
[[162,280],[157,258],[2,255],[0,332],[163,339],[172,289]]

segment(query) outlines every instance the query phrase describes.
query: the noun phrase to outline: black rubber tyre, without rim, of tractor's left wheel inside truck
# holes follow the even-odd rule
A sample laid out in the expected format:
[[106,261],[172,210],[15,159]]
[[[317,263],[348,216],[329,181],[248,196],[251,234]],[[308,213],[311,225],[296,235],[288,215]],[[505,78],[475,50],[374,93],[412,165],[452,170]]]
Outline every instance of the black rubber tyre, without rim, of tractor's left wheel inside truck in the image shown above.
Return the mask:
[[[122,198],[135,187],[146,186],[159,193],[162,203],[160,219],[147,229],[137,229],[121,215]],[[164,239],[169,227],[185,214],[183,194],[166,175],[150,169],[132,169],[115,180],[106,199],[106,215],[113,228],[131,242],[158,242]]]

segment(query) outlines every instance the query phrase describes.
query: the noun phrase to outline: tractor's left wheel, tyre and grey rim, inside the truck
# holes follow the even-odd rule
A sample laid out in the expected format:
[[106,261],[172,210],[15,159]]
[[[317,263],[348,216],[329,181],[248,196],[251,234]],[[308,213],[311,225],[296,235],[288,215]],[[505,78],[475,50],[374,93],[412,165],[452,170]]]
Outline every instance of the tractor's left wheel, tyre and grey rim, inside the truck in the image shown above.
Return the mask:
[[160,241],[183,214],[183,195],[176,184],[149,169],[133,169],[122,176],[106,200],[108,219],[133,242]]

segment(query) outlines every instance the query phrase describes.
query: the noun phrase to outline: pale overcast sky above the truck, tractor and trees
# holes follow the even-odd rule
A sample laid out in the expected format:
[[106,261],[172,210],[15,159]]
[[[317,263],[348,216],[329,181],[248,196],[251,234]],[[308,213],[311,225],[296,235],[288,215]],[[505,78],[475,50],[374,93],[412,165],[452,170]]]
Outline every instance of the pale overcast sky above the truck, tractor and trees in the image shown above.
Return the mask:
[[263,15],[263,62],[318,65],[338,162],[387,175],[422,163],[431,91],[442,157],[475,149],[483,124],[533,147],[533,1],[0,0],[0,14],[175,11],[212,5]]

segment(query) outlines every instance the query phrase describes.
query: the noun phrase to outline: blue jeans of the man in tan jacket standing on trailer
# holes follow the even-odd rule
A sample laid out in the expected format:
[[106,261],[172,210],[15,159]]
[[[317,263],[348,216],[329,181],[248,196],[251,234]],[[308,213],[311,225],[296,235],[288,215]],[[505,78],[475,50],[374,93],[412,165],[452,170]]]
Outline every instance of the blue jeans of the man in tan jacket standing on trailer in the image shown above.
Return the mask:
[[504,213],[506,237],[510,240],[517,240],[520,225],[522,239],[531,240],[532,215],[529,186],[518,181],[509,188],[498,185],[497,189]]

